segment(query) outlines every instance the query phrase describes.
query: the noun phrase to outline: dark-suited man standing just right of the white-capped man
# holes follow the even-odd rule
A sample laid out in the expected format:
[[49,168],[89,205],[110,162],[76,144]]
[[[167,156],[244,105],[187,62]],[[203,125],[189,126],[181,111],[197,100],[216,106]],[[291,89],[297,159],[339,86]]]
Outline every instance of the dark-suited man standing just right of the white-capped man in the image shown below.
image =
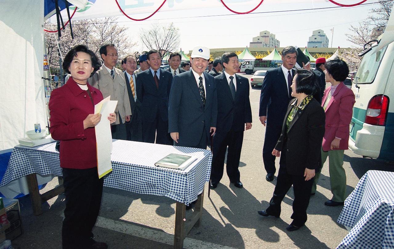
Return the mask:
[[224,73],[215,77],[217,92],[216,134],[212,145],[212,189],[217,187],[223,176],[224,159],[227,153],[226,171],[230,182],[242,188],[240,164],[243,131],[252,128],[252,109],[249,100],[249,80],[236,75],[238,56],[236,53],[224,53],[221,57]]

